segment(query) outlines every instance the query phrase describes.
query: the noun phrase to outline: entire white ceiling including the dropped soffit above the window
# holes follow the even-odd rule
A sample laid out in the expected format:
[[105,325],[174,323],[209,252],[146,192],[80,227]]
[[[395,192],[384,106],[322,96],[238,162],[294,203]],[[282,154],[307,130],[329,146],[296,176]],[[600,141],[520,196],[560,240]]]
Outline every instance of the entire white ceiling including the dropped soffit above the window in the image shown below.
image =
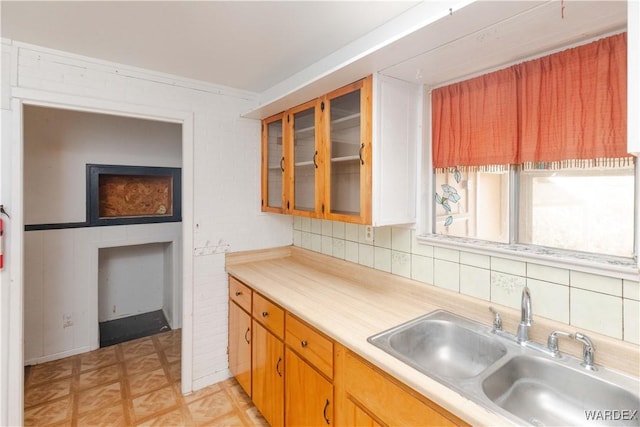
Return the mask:
[[264,118],[368,74],[437,86],[624,31],[626,1],[6,1],[2,37],[258,94]]

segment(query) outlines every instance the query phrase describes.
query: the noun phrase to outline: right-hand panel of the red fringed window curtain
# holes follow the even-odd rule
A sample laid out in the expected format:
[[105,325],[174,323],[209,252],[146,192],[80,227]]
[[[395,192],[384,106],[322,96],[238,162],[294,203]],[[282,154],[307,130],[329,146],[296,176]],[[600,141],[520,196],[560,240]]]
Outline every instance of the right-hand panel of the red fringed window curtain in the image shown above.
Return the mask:
[[629,156],[626,33],[522,63],[517,71],[518,163],[575,166]]

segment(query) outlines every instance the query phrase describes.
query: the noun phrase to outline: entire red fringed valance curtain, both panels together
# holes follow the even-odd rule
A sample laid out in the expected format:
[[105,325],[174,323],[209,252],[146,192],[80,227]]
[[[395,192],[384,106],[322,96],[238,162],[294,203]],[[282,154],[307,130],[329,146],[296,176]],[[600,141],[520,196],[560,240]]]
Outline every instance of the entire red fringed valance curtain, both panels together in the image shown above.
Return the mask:
[[434,168],[629,159],[626,50],[622,33],[435,89]]

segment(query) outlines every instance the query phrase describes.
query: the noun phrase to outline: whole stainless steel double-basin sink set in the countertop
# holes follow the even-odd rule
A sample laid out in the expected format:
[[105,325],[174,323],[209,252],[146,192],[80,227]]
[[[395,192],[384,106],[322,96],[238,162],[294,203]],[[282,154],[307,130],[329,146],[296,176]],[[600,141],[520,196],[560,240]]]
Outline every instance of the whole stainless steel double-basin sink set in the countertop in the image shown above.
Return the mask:
[[552,357],[437,310],[368,341],[476,403],[535,426],[640,426],[637,378]]

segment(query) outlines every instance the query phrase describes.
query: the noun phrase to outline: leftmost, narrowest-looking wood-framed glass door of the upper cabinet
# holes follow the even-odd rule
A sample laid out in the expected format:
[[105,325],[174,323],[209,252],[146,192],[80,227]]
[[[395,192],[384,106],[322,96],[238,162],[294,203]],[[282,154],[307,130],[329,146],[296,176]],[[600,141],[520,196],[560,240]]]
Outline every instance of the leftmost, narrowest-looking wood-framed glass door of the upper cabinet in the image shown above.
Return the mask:
[[283,212],[284,138],[283,114],[262,123],[262,210]]

